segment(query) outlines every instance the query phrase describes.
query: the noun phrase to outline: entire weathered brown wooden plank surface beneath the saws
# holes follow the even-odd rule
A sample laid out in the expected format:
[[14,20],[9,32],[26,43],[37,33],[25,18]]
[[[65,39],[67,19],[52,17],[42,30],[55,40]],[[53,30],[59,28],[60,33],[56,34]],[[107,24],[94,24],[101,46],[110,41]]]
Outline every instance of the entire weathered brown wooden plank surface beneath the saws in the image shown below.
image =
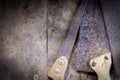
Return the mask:
[[[0,80],[48,80],[47,71],[66,38],[78,0],[0,1]],[[66,80],[96,80],[75,70]]]

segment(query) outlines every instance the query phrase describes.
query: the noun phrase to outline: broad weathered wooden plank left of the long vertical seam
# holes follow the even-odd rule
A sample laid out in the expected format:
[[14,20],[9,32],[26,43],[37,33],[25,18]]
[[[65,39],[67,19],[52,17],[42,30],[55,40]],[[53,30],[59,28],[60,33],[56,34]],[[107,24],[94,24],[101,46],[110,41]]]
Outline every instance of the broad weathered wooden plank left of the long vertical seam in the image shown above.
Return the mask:
[[47,79],[45,4],[0,0],[0,80]]

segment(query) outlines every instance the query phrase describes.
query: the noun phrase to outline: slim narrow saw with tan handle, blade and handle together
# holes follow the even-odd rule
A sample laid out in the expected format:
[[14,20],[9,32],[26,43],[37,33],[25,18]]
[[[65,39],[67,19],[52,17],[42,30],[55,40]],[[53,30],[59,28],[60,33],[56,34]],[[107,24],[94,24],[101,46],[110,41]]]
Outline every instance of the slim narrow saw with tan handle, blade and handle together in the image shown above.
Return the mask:
[[67,69],[68,60],[70,59],[72,49],[75,44],[75,40],[78,34],[79,26],[81,23],[81,19],[84,14],[85,7],[87,5],[88,0],[83,0],[80,4],[75,17],[70,25],[70,29],[68,31],[68,35],[66,40],[63,43],[63,46],[59,50],[58,59],[55,61],[50,71],[48,72],[48,76],[53,80],[63,80],[64,74]]

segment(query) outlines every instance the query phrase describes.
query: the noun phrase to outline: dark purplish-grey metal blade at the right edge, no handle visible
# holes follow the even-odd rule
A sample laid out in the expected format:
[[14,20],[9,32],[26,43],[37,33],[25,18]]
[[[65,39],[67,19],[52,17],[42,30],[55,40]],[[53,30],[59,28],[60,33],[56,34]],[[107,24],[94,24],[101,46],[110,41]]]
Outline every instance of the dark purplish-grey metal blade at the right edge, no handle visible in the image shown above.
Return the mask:
[[120,76],[120,0],[101,0],[105,24],[108,32],[113,65]]

